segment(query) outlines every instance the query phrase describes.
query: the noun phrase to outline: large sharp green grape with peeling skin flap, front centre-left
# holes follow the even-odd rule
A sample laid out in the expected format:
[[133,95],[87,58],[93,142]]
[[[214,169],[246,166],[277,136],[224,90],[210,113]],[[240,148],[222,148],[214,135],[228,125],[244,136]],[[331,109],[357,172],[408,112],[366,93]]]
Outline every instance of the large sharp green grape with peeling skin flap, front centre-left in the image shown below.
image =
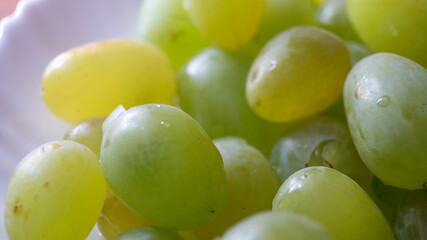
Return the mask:
[[148,222],[188,230],[223,208],[222,158],[204,130],[167,105],[117,108],[103,125],[101,167],[113,193]]

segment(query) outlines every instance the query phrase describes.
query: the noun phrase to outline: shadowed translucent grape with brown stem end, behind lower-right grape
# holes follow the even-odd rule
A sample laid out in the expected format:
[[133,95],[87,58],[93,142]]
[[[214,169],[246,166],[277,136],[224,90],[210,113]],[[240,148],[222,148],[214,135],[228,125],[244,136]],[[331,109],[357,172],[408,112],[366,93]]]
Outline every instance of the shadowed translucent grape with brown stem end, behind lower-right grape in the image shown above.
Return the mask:
[[334,168],[364,189],[368,189],[373,180],[353,145],[347,126],[329,117],[312,118],[282,137],[273,148],[270,162],[281,182],[309,166]]

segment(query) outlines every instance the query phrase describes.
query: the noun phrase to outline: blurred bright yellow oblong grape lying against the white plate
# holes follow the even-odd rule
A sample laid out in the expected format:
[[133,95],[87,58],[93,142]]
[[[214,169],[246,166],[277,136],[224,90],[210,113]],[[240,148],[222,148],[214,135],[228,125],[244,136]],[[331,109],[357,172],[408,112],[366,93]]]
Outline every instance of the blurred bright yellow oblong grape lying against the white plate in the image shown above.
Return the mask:
[[118,105],[172,104],[174,70],[156,47],[132,40],[84,45],[54,58],[41,82],[43,100],[58,117],[79,122]]

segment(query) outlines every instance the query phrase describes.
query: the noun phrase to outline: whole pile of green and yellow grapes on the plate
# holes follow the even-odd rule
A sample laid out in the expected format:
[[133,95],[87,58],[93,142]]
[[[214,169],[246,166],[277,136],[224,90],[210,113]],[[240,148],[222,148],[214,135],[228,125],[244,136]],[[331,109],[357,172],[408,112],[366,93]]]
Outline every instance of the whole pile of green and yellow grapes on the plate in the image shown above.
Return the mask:
[[11,240],[427,239],[427,0],[144,0],[140,32],[46,67],[75,125]]

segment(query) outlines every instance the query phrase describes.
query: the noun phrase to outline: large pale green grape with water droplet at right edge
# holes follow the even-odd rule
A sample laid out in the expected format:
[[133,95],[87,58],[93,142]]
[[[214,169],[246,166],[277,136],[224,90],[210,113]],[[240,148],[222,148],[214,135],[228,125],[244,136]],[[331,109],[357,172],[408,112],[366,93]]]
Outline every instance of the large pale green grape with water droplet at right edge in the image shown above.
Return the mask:
[[371,55],[344,86],[348,126],[360,157],[383,183],[427,187],[427,70],[391,53]]

